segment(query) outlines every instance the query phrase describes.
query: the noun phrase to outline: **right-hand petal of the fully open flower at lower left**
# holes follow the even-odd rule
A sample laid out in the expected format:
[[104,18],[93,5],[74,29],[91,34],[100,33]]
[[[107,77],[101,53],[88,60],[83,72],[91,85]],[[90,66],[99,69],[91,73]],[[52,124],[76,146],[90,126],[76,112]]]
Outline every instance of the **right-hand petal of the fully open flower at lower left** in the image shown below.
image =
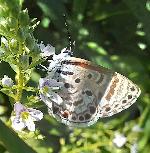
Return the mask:
[[34,121],[39,121],[43,118],[43,113],[37,109],[28,108],[28,111]]

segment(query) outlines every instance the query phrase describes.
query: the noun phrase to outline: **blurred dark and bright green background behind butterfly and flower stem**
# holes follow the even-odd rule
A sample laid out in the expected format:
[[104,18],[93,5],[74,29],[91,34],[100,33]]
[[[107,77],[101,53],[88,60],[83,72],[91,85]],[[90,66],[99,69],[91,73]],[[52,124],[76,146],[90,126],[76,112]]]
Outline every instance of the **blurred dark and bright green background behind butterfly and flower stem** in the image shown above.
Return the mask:
[[[111,68],[130,78],[142,90],[133,107],[113,118],[99,119],[91,127],[68,128],[46,115],[37,123],[44,139],[35,136],[32,139],[32,134],[25,133],[24,141],[38,153],[136,153],[131,149],[134,144],[139,152],[149,153],[150,1],[25,0],[23,8],[28,9],[30,18],[41,21],[34,32],[35,38],[55,46],[57,53],[68,45],[62,17],[65,13],[75,41],[74,56]],[[4,74],[14,78],[9,65],[1,63],[0,77]],[[38,82],[39,75],[43,76],[40,70],[33,73],[32,83]],[[9,118],[11,110],[8,97],[1,93],[1,119]],[[142,129],[133,130],[137,125]],[[116,132],[127,137],[121,148],[112,142]],[[8,153],[3,143],[0,143],[0,153]]]

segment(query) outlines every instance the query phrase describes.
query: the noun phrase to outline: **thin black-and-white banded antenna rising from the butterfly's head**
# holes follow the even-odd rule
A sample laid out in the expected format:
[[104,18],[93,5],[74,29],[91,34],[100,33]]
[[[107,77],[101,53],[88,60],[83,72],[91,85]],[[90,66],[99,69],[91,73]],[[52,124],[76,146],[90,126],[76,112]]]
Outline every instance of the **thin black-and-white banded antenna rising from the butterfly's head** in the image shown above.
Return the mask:
[[[74,43],[72,42],[72,39],[71,39],[71,34],[69,32],[69,26],[67,24],[67,20],[66,20],[66,15],[63,14],[63,17],[64,17],[64,23],[65,23],[65,27],[66,27],[66,30],[67,30],[67,35],[68,35],[68,42],[69,42],[69,45],[67,47],[68,50],[72,51],[73,47],[74,46]],[[71,53],[72,54],[72,53]]]

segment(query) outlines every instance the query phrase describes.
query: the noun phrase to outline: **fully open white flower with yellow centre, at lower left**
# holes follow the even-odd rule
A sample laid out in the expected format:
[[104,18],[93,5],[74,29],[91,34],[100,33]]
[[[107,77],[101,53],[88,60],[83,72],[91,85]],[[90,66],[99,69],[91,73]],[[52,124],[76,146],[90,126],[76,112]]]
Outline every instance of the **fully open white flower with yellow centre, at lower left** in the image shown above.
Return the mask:
[[34,121],[43,118],[43,113],[33,108],[26,108],[19,102],[14,104],[15,116],[11,116],[12,128],[16,131],[22,131],[25,127],[30,131],[35,131]]

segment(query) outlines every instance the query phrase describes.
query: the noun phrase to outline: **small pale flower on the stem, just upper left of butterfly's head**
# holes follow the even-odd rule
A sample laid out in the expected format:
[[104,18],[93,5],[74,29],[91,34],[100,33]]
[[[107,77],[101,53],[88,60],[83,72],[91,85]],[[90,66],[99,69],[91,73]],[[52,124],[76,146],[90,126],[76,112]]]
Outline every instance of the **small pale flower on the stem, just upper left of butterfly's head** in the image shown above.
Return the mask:
[[45,46],[43,44],[43,42],[41,41],[40,44],[38,44],[38,47],[40,48],[41,50],[41,56],[42,57],[49,57],[51,55],[54,55],[55,54],[55,47],[51,46],[50,44],[48,44],[47,46]]

